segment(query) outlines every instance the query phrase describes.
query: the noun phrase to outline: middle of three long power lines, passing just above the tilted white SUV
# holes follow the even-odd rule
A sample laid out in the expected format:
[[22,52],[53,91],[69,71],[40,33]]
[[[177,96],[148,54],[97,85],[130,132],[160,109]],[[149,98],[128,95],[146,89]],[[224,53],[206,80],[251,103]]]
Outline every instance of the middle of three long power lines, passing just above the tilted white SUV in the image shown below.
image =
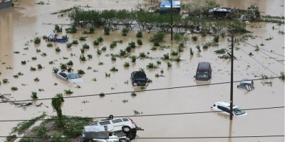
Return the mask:
[[[284,107],[263,107],[263,108],[254,108],[254,109],[243,109],[244,111],[253,111],[253,110],[264,110],[264,109],[282,109]],[[197,112],[183,112],[183,113],[172,113],[172,114],[145,114],[145,115],[130,115],[130,116],[113,116],[114,118],[121,118],[121,117],[144,117],[144,116],[171,116],[171,115],[184,115],[184,114],[207,114],[207,113],[214,113],[214,112],[222,112],[222,111],[197,111]],[[86,117],[81,119],[105,119],[106,117]],[[79,118],[74,118],[75,120],[81,120]],[[73,118],[66,118],[63,120],[74,120]],[[31,121],[33,119],[22,119],[22,120],[0,120],[0,122],[9,122],[9,121]],[[59,119],[36,119],[35,121],[44,121],[44,120],[59,120]]]

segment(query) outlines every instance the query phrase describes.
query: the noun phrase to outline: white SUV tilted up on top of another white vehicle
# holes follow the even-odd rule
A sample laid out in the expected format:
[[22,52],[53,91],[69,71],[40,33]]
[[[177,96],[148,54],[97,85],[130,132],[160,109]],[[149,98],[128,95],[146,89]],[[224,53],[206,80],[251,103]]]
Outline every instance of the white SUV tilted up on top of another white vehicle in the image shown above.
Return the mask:
[[89,126],[104,126],[105,131],[114,132],[119,136],[121,135],[120,132],[123,131],[124,135],[130,138],[130,140],[135,139],[137,134],[135,122],[128,117],[100,121],[90,124]]

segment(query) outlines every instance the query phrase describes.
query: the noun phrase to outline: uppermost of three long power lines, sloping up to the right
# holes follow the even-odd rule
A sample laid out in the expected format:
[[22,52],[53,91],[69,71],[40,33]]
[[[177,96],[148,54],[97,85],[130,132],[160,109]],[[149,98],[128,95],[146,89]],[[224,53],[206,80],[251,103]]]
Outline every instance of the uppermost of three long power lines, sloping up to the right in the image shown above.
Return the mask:
[[[277,77],[270,77],[270,79],[280,78],[278,75],[276,76]],[[264,78],[259,78],[259,79],[254,79],[254,80],[264,80]],[[241,82],[241,80],[234,81],[234,82]],[[228,84],[228,83],[230,82],[219,82],[219,83],[212,83],[212,84],[196,84],[196,85],[182,86],[182,87],[167,87],[167,88],[159,88],[159,89],[145,89],[145,90],[140,90],[140,91],[113,92],[113,93],[106,93],[106,94],[104,93],[104,94],[110,95],[110,94],[126,94],[126,93],[132,93],[132,92],[150,92],[150,91],[158,91],[158,90],[165,90],[165,89],[180,89],[180,88],[201,87],[201,86],[209,86],[209,85],[214,85],[214,84]],[[71,97],[63,97],[63,98],[70,99],[70,98],[77,98],[77,97],[91,97],[91,96],[99,96],[99,95],[100,94],[87,94],[87,95],[79,95],[79,96],[71,96]],[[47,99],[52,99],[52,98],[5,101],[5,102],[0,102],[0,104],[6,103],[6,102],[31,102],[31,101],[40,101],[40,100],[47,100]]]

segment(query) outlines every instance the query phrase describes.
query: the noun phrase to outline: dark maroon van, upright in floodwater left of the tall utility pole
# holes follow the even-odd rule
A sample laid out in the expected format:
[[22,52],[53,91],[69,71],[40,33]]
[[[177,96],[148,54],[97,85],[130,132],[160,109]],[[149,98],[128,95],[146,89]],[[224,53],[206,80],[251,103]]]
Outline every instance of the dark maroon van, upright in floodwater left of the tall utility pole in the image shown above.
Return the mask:
[[209,62],[199,62],[195,80],[208,81],[212,78],[212,67]]

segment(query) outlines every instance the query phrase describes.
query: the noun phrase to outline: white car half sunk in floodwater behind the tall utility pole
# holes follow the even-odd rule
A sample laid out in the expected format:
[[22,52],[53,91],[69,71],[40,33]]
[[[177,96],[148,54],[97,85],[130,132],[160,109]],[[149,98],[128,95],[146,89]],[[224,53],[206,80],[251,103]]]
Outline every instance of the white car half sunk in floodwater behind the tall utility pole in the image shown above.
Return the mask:
[[[211,109],[214,111],[221,111],[224,114],[229,114],[230,104],[227,102],[216,102],[214,105],[212,105]],[[232,115],[244,116],[247,115],[247,113],[233,104]]]

